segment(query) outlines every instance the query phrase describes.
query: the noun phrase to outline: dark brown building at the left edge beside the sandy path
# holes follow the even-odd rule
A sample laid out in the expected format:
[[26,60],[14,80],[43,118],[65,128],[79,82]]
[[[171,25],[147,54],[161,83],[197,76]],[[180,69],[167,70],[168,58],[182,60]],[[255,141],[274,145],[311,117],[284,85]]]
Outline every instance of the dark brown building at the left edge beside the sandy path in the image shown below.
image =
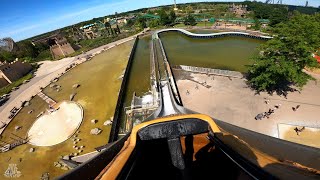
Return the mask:
[[0,88],[22,78],[31,70],[31,64],[18,60],[0,64]]

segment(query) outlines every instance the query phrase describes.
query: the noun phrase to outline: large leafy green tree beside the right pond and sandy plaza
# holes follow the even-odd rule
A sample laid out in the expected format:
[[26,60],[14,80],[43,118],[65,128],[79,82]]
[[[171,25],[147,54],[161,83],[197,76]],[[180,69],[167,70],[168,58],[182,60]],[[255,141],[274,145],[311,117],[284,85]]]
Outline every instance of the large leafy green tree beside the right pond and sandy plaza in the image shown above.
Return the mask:
[[285,94],[292,85],[302,88],[311,76],[305,67],[317,67],[311,56],[320,47],[318,16],[297,14],[273,29],[276,36],[260,47],[248,70],[248,83],[260,91]]

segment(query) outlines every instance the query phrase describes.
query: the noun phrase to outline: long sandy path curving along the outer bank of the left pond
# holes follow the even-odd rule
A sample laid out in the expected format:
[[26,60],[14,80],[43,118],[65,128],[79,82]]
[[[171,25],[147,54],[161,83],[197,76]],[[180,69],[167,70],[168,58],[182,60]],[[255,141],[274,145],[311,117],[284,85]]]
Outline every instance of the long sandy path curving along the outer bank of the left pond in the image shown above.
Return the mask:
[[[29,101],[31,96],[36,95],[41,87],[46,87],[51,80],[55,77],[59,77],[61,73],[65,71],[65,69],[73,63],[77,63],[81,61],[81,58],[87,56],[88,54],[95,54],[97,52],[102,51],[105,48],[112,48],[117,46],[118,44],[125,43],[134,39],[137,35],[142,33],[138,33],[136,35],[100,46],[96,49],[90,50],[86,52],[86,54],[81,54],[75,57],[64,58],[59,61],[43,61],[39,62],[42,65],[35,73],[36,76],[30,80],[29,83],[23,84],[16,91],[10,93],[10,99],[0,107],[0,121],[3,123],[10,123],[10,119],[8,118],[10,115],[10,110],[14,107],[19,108],[24,101]],[[5,128],[0,129],[0,135],[4,131]]]

